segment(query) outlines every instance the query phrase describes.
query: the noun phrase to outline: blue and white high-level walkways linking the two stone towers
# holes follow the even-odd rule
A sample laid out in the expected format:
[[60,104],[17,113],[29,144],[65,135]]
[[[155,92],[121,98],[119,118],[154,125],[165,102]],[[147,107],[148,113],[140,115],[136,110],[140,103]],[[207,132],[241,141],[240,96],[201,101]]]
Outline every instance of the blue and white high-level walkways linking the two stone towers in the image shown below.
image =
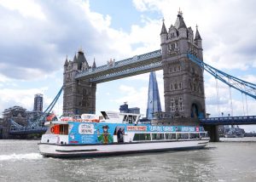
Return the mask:
[[150,71],[162,69],[161,49],[147,54],[133,56],[132,58],[109,61],[108,65],[102,65],[96,68],[90,68],[87,71],[81,71],[75,79],[88,79],[90,82],[100,83],[116,80],[124,77],[131,77]]

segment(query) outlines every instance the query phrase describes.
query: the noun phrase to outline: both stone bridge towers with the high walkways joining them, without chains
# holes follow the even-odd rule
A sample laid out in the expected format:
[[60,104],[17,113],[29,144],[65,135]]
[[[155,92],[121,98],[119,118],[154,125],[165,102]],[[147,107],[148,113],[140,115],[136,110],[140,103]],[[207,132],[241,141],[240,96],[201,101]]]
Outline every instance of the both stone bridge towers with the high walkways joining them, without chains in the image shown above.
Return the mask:
[[[160,30],[160,50],[108,61],[107,65],[88,65],[83,51],[73,61],[66,60],[63,79],[63,114],[95,113],[96,84],[131,77],[145,72],[163,70],[165,111],[175,117],[205,117],[203,69],[189,60],[187,53],[202,57],[201,36],[187,27],[183,14],[178,12],[174,26]],[[178,108],[178,111],[176,110]]]

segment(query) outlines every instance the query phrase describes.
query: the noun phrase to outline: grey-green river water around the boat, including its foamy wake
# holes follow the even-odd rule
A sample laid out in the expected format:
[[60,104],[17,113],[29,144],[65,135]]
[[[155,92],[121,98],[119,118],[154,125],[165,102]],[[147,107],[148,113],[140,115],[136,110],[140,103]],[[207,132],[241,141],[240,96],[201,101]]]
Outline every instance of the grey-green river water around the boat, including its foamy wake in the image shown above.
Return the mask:
[[38,142],[0,140],[1,182],[256,181],[255,138],[210,143],[204,150],[87,159],[43,157]]

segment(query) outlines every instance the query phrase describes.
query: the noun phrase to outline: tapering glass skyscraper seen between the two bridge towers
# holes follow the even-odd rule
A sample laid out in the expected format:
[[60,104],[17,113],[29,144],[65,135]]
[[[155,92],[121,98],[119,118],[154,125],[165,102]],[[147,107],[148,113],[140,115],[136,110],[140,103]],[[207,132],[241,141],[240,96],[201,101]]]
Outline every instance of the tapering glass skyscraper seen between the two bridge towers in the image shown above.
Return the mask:
[[160,96],[158,90],[158,84],[156,81],[155,72],[150,72],[149,85],[148,85],[148,108],[147,118],[150,120],[153,118],[154,112],[161,111]]

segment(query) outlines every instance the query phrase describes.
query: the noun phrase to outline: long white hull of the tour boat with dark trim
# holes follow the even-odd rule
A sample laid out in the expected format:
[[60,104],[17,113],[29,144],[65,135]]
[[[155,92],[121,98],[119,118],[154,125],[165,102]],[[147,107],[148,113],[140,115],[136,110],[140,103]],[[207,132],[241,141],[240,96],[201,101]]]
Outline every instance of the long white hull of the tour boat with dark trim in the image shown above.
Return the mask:
[[114,156],[158,151],[184,151],[204,148],[209,139],[131,142],[108,145],[55,145],[40,143],[39,150],[49,157]]

